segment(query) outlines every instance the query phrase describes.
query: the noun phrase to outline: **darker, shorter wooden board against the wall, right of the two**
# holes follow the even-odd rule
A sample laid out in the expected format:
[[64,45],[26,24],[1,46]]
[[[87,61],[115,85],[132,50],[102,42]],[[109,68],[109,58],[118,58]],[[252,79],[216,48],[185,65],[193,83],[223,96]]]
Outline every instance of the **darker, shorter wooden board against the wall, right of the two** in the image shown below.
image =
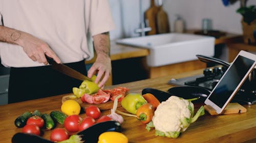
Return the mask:
[[157,13],[157,32],[159,34],[162,33],[169,33],[170,28],[169,28],[169,21],[168,21],[168,15],[167,13],[163,10],[163,7],[159,7],[159,11]]

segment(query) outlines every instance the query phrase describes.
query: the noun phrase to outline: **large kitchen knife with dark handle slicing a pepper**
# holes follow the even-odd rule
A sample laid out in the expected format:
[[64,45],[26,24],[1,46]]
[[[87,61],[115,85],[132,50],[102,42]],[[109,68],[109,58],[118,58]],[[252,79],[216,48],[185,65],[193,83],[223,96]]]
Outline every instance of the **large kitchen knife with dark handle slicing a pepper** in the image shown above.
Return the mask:
[[70,68],[70,67],[68,67],[66,65],[56,63],[52,58],[50,58],[47,55],[46,55],[46,59],[47,59],[48,63],[50,65],[52,65],[53,69],[55,69],[55,70],[57,70],[57,71],[59,71],[59,72],[61,72],[63,74],[66,74],[66,75],[68,75],[70,77],[73,77],[73,78],[76,78],[76,79],[82,80],[82,81],[83,80],[90,80],[90,81],[92,81],[91,78],[81,74],[80,72],[78,72],[78,71],[76,71],[76,70],[74,70],[74,69],[72,69],[72,68]]

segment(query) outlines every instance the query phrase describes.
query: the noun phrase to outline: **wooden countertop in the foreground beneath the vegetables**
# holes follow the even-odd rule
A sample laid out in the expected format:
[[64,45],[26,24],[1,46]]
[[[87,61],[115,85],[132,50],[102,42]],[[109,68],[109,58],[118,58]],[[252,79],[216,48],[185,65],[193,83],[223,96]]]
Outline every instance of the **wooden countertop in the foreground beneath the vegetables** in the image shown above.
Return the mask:
[[[112,85],[105,89],[117,86],[131,89],[130,93],[141,93],[144,88],[155,88],[167,91],[172,85],[167,84],[171,78],[181,78],[201,74],[202,70],[189,73],[182,73],[173,76],[145,79],[119,85]],[[28,90],[29,92],[29,90]],[[22,128],[14,126],[14,120],[25,111],[38,109],[42,113],[50,113],[52,110],[60,110],[61,98],[64,95],[42,98],[37,100],[2,105],[0,110],[0,142],[11,142],[12,136],[21,132]],[[195,110],[201,105],[195,105]],[[256,142],[256,105],[244,105],[246,113],[210,116],[207,112],[178,138],[167,138],[155,136],[155,130],[147,132],[145,125],[133,117],[124,117],[121,125],[123,134],[129,138],[130,143],[134,142]],[[122,110],[122,107],[119,107]],[[103,115],[110,113],[109,110],[102,112]],[[85,117],[82,114],[81,117]],[[57,127],[61,127],[59,124]],[[51,131],[44,131],[45,138],[49,139]]]

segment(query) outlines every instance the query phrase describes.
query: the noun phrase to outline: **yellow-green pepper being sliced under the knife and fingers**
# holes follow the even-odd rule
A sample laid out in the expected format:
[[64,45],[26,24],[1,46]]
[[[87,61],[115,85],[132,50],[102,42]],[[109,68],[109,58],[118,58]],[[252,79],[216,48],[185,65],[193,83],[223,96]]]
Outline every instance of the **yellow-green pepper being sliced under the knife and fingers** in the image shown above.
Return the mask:
[[94,81],[84,80],[79,86],[79,89],[84,90],[87,94],[93,94],[98,92],[99,86]]

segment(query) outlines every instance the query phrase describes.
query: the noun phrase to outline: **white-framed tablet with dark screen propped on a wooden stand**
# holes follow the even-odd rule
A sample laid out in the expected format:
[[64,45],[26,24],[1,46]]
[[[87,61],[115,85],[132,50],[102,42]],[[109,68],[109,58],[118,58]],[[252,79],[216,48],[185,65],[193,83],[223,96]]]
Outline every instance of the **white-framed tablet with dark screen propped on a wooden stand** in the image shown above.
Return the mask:
[[256,55],[241,50],[205,100],[221,114],[256,65]]

